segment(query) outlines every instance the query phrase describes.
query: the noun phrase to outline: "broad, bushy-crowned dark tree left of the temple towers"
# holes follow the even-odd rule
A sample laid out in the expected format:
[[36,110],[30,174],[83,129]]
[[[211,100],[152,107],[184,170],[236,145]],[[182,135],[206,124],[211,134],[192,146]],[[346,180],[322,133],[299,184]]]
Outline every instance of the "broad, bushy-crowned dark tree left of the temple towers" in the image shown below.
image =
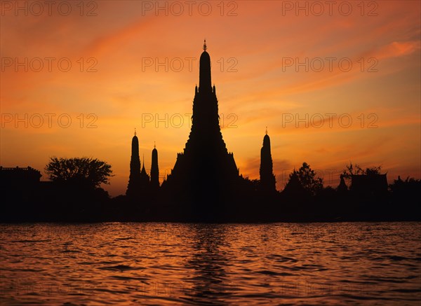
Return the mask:
[[109,183],[111,165],[93,158],[50,158],[45,168],[51,181],[80,184],[91,188]]

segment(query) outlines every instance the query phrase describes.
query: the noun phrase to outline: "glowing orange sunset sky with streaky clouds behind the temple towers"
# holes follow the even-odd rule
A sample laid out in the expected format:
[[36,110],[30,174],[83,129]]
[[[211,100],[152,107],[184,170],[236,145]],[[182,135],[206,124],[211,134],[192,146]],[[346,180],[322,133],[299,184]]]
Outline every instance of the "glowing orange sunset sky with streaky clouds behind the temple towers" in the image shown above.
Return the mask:
[[[156,141],[168,173],[189,135],[206,38],[222,134],[243,176],[258,178],[267,126],[278,189],[304,161],[326,185],[349,161],[382,165],[390,183],[420,179],[418,1],[193,1],[191,12],[185,1],[62,2],[51,13],[44,1],[1,2],[3,166],[99,158],[115,174],[105,189],[119,195],[136,127],[146,168]],[[166,60],[168,71],[155,67]]]

